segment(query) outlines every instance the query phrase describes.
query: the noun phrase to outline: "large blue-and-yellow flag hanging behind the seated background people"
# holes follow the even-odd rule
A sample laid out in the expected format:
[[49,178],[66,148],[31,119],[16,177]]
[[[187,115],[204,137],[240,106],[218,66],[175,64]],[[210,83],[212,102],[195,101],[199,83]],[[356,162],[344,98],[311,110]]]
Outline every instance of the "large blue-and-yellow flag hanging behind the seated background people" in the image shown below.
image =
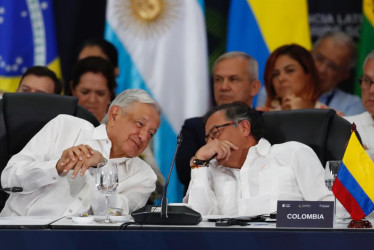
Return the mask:
[[290,43],[308,50],[312,46],[307,0],[231,1],[227,51],[243,51],[254,57],[262,83],[270,53]]

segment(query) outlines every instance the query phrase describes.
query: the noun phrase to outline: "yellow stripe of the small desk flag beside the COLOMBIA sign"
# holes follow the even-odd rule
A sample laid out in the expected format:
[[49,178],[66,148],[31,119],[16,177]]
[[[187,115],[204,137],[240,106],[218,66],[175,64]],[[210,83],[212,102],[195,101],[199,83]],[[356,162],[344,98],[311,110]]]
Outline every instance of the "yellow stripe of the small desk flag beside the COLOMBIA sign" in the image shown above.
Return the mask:
[[369,198],[374,201],[374,163],[355,133],[349,139],[343,163]]

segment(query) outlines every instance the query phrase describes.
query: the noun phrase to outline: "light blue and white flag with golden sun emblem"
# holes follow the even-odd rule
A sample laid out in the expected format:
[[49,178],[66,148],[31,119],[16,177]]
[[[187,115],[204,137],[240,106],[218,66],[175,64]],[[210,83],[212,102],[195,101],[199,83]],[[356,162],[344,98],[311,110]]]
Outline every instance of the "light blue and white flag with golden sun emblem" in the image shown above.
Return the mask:
[[[184,120],[208,110],[202,4],[197,0],[108,0],[106,22],[105,38],[119,51],[117,92],[145,89],[162,108],[154,154],[166,177]],[[180,202],[182,195],[182,185],[173,171],[168,199]]]

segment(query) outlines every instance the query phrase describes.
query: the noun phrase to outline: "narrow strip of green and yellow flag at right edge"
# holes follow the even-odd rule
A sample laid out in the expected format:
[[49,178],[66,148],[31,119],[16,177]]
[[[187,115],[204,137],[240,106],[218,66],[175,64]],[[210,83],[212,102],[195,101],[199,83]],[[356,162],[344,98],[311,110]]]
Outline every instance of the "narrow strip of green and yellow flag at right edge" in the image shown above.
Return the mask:
[[[362,1],[363,19],[361,24],[360,43],[358,46],[357,78],[362,76],[365,57],[374,50],[374,0]],[[359,84],[355,85],[355,94],[361,95]]]

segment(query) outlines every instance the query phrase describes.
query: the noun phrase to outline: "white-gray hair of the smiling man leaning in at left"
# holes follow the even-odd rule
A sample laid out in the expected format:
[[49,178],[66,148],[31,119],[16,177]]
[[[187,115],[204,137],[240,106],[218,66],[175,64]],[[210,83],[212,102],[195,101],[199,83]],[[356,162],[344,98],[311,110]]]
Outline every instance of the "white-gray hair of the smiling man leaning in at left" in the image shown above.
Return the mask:
[[[152,97],[142,89],[127,89],[122,91],[117,97],[112,101],[109,106],[109,109],[113,106],[120,106],[122,111],[125,113],[131,105],[136,102],[146,103],[153,105],[158,114],[161,114],[160,106],[152,99]],[[109,110],[108,109],[108,110]],[[106,113],[101,124],[106,124],[108,122],[108,112]]]

